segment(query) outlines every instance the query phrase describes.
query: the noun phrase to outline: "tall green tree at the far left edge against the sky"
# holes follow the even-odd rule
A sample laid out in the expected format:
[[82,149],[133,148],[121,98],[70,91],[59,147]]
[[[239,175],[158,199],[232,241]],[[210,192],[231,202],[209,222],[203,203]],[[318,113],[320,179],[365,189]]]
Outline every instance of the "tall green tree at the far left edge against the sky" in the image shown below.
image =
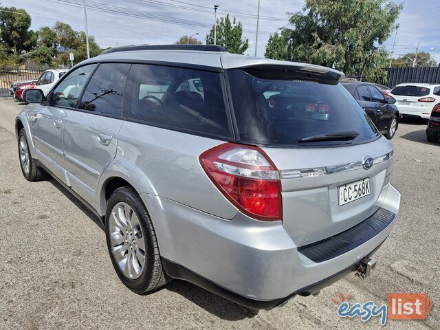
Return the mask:
[[31,18],[23,9],[3,7],[0,12],[0,39],[19,55],[36,45],[36,33],[29,30]]

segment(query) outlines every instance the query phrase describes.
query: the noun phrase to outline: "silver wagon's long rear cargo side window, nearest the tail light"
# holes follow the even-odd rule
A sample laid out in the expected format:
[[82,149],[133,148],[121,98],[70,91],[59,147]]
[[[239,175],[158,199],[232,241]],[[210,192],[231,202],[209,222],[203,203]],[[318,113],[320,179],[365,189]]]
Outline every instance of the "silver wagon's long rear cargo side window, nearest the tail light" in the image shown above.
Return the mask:
[[217,72],[133,64],[124,116],[188,133],[231,135]]

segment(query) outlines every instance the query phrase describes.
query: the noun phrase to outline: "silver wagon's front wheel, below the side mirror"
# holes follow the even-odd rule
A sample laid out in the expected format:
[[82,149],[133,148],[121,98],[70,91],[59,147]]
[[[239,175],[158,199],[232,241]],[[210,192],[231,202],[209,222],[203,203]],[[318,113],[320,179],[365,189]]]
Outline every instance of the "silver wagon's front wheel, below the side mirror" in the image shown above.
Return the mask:
[[49,175],[43,168],[39,167],[35,159],[29,151],[28,137],[26,136],[25,129],[21,129],[19,132],[19,162],[21,167],[21,173],[23,177],[28,181],[41,181],[46,179]]

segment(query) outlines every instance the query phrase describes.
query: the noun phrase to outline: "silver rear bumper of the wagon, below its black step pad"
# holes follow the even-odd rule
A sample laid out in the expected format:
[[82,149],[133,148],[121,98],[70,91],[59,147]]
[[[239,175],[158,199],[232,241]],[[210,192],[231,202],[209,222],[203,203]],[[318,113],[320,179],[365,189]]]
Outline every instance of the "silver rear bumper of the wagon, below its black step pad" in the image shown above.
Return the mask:
[[169,199],[141,197],[171,277],[256,308],[313,294],[355,270],[390,234],[400,204],[399,192],[384,186],[377,206],[393,214],[388,225],[351,250],[315,262],[298,251],[279,221],[255,221],[241,213],[225,221]]

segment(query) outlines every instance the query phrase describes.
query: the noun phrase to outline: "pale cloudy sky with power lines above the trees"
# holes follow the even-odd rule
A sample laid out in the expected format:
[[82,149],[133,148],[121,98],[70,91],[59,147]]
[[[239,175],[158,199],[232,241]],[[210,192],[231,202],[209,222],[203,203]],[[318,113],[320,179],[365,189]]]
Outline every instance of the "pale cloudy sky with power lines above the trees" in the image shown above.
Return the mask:
[[[159,45],[174,43],[179,36],[195,35],[204,43],[214,22],[214,1],[206,0],[86,0],[89,35],[101,47]],[[287,26],[287,12],[303,8],[304,0],[261,0],[257,56],[264,56],[270,33]],[[397,1],[396,1],[397,2]],[[384,43],[398,57],[406,52],[430,52],[440,63],[440,0],[406,0],[397,23],[399,29]],[[215,0],[220,5],[217,17],[227,12],[243,23],[243,36],[249,39],[245,54],[254,55],[258,0]],[[52,27],[56,21],[85,30],[83,0],[1,0],[5,7],[25,9],[32,17],[32,30]],[[104,10],[104,11],[103,11]],[[127,16],[124,13],[129,13]]]

